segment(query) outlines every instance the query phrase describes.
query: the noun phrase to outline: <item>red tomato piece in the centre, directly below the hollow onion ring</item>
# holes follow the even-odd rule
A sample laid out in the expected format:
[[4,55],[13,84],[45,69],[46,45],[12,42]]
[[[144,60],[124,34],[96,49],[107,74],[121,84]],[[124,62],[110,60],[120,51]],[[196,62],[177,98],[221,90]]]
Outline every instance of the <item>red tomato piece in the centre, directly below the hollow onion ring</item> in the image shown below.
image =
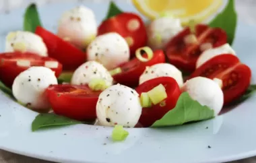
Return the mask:
[[[143,55],[145,56],[145,55]],[[157,63],[164,63],[165,56],[161,50],[154,51],[154,57],[148,62],[141,62],[134,58],[131,61],[120,65],[121,73],[113,75],[115,81],[125,86],[137,86],[139,84],[139,76],[143,73],[147,66],[155,65]]]

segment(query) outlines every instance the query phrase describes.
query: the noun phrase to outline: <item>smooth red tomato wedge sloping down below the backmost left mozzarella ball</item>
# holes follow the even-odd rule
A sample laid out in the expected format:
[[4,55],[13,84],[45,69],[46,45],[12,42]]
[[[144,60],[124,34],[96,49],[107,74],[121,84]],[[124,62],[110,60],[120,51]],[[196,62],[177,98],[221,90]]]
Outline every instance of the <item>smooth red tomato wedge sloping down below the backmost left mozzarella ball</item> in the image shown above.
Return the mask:
[[69,42],[38,26],[36,34],[42,37],[48,48],[49,57],[63,64],[64,70],[75,70],[86,61],[86,54]]

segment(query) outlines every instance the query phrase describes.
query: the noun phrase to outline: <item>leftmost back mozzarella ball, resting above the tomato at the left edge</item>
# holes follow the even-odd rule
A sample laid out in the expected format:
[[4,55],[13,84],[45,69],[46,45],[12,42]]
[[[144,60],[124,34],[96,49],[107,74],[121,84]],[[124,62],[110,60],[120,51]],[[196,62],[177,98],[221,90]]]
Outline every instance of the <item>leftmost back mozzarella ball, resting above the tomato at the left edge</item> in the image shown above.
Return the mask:
[[32,32],[9,32],[5,38],[5,52],[30,52],[47,57],[47,48],[42,38]]

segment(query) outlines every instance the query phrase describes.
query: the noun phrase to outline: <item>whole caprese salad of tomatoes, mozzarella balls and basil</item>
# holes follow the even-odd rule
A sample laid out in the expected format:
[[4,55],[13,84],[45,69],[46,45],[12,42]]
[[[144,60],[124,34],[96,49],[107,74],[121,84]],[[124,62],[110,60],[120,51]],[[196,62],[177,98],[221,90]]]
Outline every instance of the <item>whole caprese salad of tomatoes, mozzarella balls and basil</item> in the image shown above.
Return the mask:
[[94,11],[81,5],[61,15],[56,34],[28,24],[34,13],[26,14],[24,31],[7,34],[1,82],[20,104],[53,110],[36,117],[33,131],[89,122],[115,127],[121,140],[123,127],[211,119],[253,92],[251,69],[231,46],[234,33],[226,31],[236,28],[233,0],[210,24],[189,26],[168,14],[146,26],[139,15],[117,6],[111,12],[111,6],[100,26]]

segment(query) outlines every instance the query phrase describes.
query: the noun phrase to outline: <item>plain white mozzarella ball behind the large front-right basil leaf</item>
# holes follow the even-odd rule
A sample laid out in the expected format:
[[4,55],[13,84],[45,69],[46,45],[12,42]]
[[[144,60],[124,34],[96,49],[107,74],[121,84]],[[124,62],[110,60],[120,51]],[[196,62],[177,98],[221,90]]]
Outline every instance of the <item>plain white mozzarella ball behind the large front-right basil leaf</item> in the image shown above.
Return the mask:
[[193,100],[208,106],[218,115],[224,104],[224,95],[217,82],[206,77],[194,77],[185,82],[183,92],[188,92]]

